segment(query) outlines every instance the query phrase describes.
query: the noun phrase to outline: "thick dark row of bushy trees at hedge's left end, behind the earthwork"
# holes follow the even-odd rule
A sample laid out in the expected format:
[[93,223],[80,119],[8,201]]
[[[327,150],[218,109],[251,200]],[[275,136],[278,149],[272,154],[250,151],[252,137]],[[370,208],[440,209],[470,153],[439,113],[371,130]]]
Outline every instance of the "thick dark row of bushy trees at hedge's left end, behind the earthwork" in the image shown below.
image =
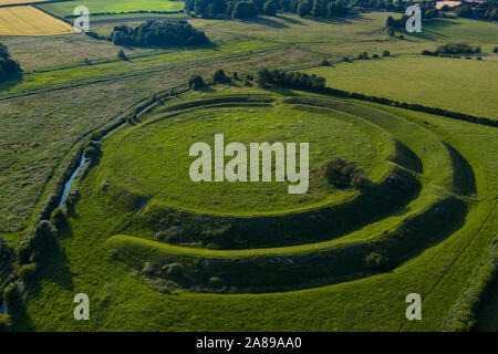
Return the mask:
[[261,69],[258,71],[257,83],[261,87],[283,86],[298,90],[323,90],[325,87],[325,77],[317,76],[315,74],[308,75],[307,73],[289,72],[284,73],[279,70]]

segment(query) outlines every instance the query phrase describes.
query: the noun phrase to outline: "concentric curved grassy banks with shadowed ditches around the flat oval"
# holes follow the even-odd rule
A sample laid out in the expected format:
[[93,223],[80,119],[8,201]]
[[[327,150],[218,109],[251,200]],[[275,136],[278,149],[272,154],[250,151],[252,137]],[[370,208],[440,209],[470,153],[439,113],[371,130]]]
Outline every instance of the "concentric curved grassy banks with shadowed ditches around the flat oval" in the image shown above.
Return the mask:
[[[247,103],[240,97],[236,102],[216,97],[157,107],[155,119],[146,125],[172,117],[164,113],[173,112],[176,117],[184,112],[178,110],[237,105],[240,100]],[[120,235],[106,242],[113,257],[151,278],[174,281],[193,291],[274,292],[392,270],[465,223],[467,205],[452,191],[463,190],[455,174],[468,173],[468,168],[430,131],[350,102],[299,96],[284,100],[284,104],[298,111],[322,110],[342,119],[362,119],[390,134],[394,144],[391,173],[342,204],[277,216],[234,217],[181,210],[149,200],[145,194],[131,192],[133,207],[126,210],[135,211],[131,215],[133,221],[118,228]],[[118,192],[126,194],[126,189]],[[112,191],[107,199],[114,199]],[[122,208],[120,198],[116,200],[113,207]],[[142,208],[144,202],[147,207]],[[141,231],[148,239],[127,236]],[[151,240],[158,233],[163,242]]]

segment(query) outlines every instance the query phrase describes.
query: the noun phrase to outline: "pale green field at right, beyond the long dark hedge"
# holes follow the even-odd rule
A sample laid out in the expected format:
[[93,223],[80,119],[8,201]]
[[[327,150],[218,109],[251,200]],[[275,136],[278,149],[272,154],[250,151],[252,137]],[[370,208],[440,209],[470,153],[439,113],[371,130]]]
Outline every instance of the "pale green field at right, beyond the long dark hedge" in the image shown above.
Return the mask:
[[497,71],[497,61],[400,55],[308,73],[326,77],[334,88],[498,119],[498,84],[489,80]]

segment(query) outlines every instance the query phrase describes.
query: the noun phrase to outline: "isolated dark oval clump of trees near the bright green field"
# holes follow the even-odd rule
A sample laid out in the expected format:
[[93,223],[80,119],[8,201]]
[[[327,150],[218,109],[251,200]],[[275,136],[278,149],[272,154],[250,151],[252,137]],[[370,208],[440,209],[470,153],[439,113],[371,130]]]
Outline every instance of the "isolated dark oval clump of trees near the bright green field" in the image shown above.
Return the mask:
[[199,45],[209,43],[206,34],[187,21],[149,20],[138,27],[115,27],[110,41],[116,45]]

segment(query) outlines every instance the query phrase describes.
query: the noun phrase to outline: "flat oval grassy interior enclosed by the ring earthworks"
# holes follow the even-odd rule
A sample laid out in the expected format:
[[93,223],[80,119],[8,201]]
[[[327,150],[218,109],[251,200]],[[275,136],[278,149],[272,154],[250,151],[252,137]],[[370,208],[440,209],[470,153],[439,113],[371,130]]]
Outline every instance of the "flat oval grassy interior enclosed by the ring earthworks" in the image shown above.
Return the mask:
[[[354,125],[353,125],[354,124]],[[355,128],[355,126],[357,128]],[[310,189],[305,195],[289,195],[288,184],[266,183],[196,184],[188,168],[195,159],[188,147],[205,142],[214,148],[214,134],[225,134],[225,145],[240,142],[305,142],[310,150]],[[354,123],[340,114],[297,111],[288,106],[196,110],[181,117],[129,129],[118,139],[118,148],[104,162],[102,179],[118,183],[154,201],[170,207],[204,212],[258,214],[338,202],[352,196],[326,184],[319,167],[334,156],[356,162],[366,175],[378,180],[387,167],[383,160],[393,153],[387,134],[360,119]],[[249,156],[249,152],[248,152]],[[228,163],[230,158],[226,158]],[[298,162],[299,163],[299,162]],[[373,170],[373,167],[376,167]],[[384,168],[383,168],[384,167]],[[162,171],[157,174],[157,171]]]

